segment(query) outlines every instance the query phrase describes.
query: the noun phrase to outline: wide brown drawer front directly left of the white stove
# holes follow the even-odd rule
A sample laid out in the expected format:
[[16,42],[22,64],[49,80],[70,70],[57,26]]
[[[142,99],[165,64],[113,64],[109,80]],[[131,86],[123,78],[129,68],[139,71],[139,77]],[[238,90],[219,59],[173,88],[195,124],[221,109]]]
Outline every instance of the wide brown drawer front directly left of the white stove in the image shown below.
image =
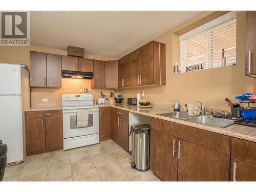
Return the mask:
[[32,111],[25,113],[26,119],[50,119],[62,117],[61,110],[52,110],[52,111]]

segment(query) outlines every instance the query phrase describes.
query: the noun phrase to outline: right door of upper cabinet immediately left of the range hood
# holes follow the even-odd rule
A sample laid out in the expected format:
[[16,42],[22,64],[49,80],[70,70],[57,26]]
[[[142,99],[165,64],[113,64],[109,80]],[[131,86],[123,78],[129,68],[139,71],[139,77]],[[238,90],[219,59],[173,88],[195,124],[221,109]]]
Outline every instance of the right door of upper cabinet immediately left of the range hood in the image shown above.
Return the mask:
[[47,53],[47,86],[61,87],[61,55]]

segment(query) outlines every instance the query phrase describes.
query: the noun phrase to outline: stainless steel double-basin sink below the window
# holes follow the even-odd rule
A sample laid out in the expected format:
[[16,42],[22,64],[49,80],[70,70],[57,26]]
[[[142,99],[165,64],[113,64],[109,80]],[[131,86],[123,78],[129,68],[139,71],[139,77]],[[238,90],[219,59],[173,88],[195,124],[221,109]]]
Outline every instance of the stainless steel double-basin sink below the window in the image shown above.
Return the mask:
[[181,119],[181,120],[194,122],[194,123],[205,124],[209,126],[220,127],[220,128],[225,128],[234,124],[233,120],[221,119],[221,118],[212,117],[209,115],[189,116],[187,113],[181,113],[181,112],[161,113],[157,115]]

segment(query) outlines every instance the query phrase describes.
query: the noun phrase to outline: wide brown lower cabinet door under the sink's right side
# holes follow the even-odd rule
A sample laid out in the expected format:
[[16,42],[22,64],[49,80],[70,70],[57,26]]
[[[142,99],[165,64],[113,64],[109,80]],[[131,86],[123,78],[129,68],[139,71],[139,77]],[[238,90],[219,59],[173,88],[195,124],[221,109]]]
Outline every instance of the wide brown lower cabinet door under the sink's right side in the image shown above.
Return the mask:
[[229,181],[229,156],[185,140],[179,141],[178,181]]

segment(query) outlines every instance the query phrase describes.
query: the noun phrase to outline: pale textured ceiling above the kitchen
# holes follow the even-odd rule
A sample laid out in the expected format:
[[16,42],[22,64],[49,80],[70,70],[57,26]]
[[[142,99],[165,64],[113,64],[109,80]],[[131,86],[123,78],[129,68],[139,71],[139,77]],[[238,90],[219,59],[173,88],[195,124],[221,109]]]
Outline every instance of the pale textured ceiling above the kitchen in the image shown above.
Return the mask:
[[31,45],[120,58],[200,11],[31,11]]

